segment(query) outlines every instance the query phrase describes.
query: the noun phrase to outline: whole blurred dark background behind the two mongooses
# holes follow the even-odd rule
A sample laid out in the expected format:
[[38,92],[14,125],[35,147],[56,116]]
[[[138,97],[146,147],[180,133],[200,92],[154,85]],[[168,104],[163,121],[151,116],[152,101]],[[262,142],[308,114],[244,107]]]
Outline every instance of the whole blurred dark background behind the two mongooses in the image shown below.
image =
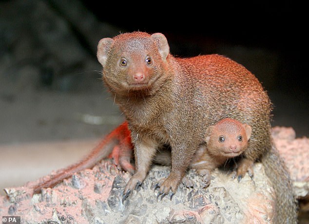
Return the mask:
[[96,57],[98,41],[120,32],[161,32],[175,56],[217,53],[243,64],[270,95],[272,125],[309,137],[301,5],[144,2],[133,10],[132,4],[0,1],[1,189],[77,162],[124,120]]

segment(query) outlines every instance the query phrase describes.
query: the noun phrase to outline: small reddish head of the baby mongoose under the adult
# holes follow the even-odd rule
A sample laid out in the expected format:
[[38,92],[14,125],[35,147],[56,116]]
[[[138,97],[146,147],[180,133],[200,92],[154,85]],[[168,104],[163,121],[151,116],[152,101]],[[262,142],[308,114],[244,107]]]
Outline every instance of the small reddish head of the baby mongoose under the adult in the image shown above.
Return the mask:
[[250,137],[250,125],[225,118],[207,128],[205,140],[212,155],[232,158],[246,150]]

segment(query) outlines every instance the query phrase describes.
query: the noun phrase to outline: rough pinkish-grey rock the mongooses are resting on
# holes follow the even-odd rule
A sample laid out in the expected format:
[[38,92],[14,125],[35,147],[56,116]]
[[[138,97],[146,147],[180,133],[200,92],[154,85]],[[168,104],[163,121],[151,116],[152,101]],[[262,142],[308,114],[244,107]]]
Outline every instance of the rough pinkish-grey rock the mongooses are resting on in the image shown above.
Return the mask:
[[[283,157],[289,160],[294,183],[308,186],[308,139],[290,135],[282,139],[286,130],[292,129],[274,129],[275,142],[282,153],[288,148],[302,155]],[[7,197],[0,198],[0,215],[21,216],[23,223],[270,223],[274,192],[261,163],[254,165],[253,180],[246,175],[240,183],[232,180],[228,171],[216,169],[208,188],[203,188],[200,177],[190,170],[187,177],[193,180],[193,188],[180,184],[172,200],[165,196],[157,202],[155,183],[169,172],[170,167],[154,165],[143,184],[122,204],[122,191],[130,175],[118,170],[112,161],[103,160],[53,189],[43,189],[41,194],[31,196],[27,187],[5,189]],[[308,195],[306,189],[297,196]]]

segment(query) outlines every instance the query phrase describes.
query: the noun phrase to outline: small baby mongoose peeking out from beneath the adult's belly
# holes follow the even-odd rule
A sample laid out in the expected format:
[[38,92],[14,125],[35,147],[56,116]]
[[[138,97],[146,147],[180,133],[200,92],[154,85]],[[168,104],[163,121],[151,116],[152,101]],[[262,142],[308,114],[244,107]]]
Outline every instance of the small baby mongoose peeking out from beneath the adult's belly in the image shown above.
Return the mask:
[[[205,143],[195,152],[190,168],[203,177],[204,186],[211,181],[213,169],[225,164],[227,160],[241,155],[248,147],[251,137],[251,126],[231,118],[225,118],[207,127]],[[163,151],[154,159],[155,163],[171,165],[171,154]],[[190,186],[190,180],[183,179]]]

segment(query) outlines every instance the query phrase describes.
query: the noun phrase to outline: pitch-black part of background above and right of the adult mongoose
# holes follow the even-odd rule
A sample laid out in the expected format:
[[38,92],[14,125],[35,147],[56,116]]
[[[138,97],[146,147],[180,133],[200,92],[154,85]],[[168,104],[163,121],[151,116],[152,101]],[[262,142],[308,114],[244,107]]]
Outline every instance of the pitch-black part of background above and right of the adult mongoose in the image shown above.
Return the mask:
[[[274,104],[273,125],[294,126],[309,135],[308,10],[295,1],[219,1],[151,4],[150,10],[102,13],[84,1],[98,20],[119,30],[161,32],[182,57],[223,54],[245,65],[263,83]],[[302,127],[300,127],[303,125]]]

